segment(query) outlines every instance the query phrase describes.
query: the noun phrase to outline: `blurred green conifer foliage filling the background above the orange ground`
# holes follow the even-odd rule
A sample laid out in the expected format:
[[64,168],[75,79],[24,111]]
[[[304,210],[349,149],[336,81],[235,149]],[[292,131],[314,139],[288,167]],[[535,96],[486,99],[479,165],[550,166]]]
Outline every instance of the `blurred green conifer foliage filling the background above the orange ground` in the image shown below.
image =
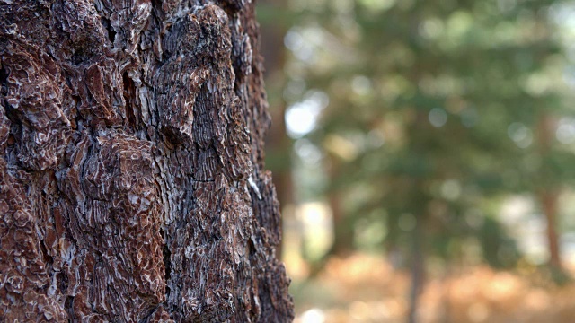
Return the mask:
[[383,220],[381,246],[405,249],[411,214],[442,258],[461,256],[450,246],[471,236],[491,265],[517,261],[496,218],[470,225],[465,214],[574,183],[573,138],[555,139],[573,117],[555,3],[292,2],[287,74],[297,91],[287,98],[330,98],[304,136],[324,152],[324,194],[348,196],[343,223]]

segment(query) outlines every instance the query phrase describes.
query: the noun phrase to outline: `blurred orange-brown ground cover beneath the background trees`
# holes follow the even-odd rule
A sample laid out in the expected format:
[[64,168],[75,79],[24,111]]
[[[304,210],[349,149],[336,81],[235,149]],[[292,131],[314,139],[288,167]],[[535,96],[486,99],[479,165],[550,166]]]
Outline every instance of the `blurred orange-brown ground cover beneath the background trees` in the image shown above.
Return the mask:
[[[571,267],[571,274],[573,274]],[[289,264],[288,264],[289,270]],[[557,286],[535,266],[513,272],[488,266],[429,277],[420,299],[421,323],[571,323],[575,285]],[[366,254],[332,258],[313,280],[297,281],[296,323],[405,322],[409,273]]]

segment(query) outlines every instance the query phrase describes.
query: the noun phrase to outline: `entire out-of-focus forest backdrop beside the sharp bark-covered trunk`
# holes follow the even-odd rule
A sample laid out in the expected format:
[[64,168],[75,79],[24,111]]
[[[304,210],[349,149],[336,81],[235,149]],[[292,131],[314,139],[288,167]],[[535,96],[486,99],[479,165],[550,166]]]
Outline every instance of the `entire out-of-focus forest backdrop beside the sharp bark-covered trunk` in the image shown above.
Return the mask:
[[573,322],[575,4],[258,19],[296,322]]

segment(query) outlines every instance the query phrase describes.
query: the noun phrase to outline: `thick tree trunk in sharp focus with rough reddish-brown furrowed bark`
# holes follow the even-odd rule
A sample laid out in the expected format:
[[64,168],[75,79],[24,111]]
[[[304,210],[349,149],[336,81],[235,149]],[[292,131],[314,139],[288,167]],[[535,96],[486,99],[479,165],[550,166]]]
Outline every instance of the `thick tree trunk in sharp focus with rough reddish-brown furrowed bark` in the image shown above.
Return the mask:
[[249,0],[0,1],[0,320],[285,322]]

